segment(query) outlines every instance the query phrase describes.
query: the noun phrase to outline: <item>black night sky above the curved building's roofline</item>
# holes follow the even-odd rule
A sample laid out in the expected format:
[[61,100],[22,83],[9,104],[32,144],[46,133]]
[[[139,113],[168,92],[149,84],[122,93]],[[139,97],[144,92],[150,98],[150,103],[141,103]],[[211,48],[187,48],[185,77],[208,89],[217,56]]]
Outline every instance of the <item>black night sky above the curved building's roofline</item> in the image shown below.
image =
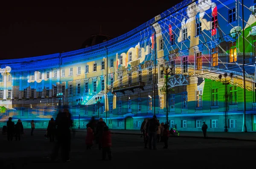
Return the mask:
[[100,25],[102,33],[117,37],[182,0],[151,1],[85,0],[69,6],[1,7],[0,59],[79,49],[91,34],[99,33]]

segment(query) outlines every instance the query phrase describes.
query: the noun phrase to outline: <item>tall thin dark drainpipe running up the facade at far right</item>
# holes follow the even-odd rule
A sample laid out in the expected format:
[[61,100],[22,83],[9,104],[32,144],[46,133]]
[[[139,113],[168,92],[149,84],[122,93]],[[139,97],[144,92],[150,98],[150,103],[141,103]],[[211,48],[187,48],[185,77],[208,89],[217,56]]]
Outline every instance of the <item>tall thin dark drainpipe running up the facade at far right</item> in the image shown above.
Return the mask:
[[243,128],[242,132],[247,132],[246,127],[246,88],[245,88],[245,69],[244,69],[244,62],[245,62],[245,45],[244,45],[244,0],[241,0],[242,2],[242,22],[243,22],[243,85],[244,85],[244,112],[243,112]]

